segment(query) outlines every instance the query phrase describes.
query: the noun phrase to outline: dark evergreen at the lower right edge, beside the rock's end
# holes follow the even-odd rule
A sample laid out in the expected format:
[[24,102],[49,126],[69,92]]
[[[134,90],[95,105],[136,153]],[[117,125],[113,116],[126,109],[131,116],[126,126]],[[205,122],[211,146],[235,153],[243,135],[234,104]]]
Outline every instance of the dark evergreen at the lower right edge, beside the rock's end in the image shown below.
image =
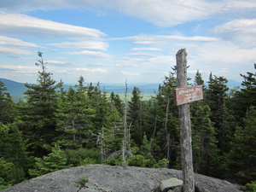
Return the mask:
[[248,109],[244,126],[237,127],[230,144],[230,175],[241,184],[256,178],[256,107]]

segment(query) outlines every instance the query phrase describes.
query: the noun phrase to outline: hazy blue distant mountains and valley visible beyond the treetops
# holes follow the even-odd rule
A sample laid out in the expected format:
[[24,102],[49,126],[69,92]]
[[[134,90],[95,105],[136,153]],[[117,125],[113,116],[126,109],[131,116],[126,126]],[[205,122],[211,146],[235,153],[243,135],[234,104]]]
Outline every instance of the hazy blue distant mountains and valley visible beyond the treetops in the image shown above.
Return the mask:
[[[25,95],[23,94],[26,91],[24,83],[15,82],[9,79],[0,79],[5,87],[7,87],[7,92],[10,93],[14,102],[19,102],[20,99],[24,99]],[[65,90],[74,84],[63,84]],[[144,95],[154,95],[155,91],[158,90],[160,84],[128,84],[128,93],[131,94],[133,88],[136,86],[139,90],[142,91]],[[241,86],[241,82],[235,80],[229,80],[228,86],[230,88]],[[112,91],[115,94],[124,94],[125,93],[125,84],[100,84],[101,90],[105,90],[108,93]]]

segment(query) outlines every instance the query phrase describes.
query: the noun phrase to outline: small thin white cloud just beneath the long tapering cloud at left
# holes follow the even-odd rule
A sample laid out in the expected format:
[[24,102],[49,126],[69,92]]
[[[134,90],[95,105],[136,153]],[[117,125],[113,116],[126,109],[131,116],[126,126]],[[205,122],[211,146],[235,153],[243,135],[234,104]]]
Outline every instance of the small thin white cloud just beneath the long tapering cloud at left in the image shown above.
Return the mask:
[[60,44],[49,44],[66,49],[96,49],[96,50],[107,50],[108,43],[101,41],[82,41],[82,42],[64,42]]

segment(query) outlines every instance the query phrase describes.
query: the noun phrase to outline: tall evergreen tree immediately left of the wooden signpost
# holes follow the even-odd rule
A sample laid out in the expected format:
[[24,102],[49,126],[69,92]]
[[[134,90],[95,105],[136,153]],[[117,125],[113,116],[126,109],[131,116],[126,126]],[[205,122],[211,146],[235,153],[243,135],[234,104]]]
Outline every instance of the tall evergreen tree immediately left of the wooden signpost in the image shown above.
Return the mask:
[[[161,148],[158,160],[166,158],[170,165],[179,166],[179,123],[177,119],[177,107],[173,104],[173,90],[177,88],[175,73],[166,77],[164,84],[152,99],[152,111],[154,117],[150,119],[155,142]],[[145,123],[148,125],[148,123]],[[147,127],[148,128],[148,127]],[[147,132],[147,129],[145,129]]]

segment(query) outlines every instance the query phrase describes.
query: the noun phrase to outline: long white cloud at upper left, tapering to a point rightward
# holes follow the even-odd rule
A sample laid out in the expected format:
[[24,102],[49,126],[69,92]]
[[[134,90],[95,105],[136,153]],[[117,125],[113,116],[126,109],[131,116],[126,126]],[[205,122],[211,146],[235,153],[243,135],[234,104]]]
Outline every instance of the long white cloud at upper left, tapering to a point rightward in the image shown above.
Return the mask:
[[41,20],[28,15],[0,12],[0,32],[44,38],[100,38],[105,34],[97,29]]

